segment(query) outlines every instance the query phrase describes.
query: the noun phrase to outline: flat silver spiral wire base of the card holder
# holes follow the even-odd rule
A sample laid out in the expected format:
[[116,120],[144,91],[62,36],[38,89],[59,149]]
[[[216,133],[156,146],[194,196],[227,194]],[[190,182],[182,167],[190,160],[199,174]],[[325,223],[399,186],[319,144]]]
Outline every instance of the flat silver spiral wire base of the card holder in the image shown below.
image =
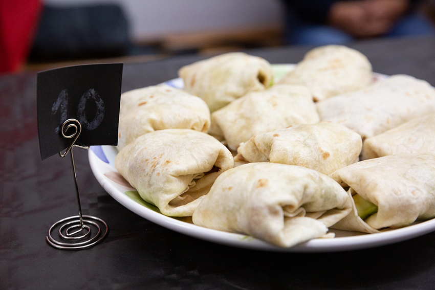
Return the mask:
[[[83,219],[80,219],[79,215],[70,216],[55,222],[48,231],[47,242],[57,249],[79,250],[90,248],[105,238],[108,227],[102,219],[91,215],[82,217]],[[102,225],[101,228],[99,224]],[[51,235],[57,227],[59,227],[59,237],[63,241],[56,240]],[[91,228],[96,230],[95,234],[92,233]]]

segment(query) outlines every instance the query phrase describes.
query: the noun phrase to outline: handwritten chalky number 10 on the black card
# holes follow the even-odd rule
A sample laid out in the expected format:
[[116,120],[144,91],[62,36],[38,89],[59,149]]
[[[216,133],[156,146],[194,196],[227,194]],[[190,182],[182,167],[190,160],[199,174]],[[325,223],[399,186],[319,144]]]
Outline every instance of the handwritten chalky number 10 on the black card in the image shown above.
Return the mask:
[[[88,101],[91,98],[92,100],[94,100],[97,109],[95,112],[94,119],[92,121],[89,121],[86,118],[85,106],[86,106],[86,101]],[[61,124],[63,124],[63,122],[65,122],[68,119],[67,109],[68,109],[68,90],[62,90],[59,96],[57,97],[56,102],[53,104],[53,107],[51,108],[52,115],[56,114],[57,111],[59,111],[60,113],[60,124],[55,129],[56,133],[60,132]],[[95,92],[93,88],[90,88],[88,91],[84,92],[84,94],[81,96],[77,106],[77,117],[81,126],[88,130],[94,130],[103,121],[104,102],[101,99],[100,95],[97,92]]]

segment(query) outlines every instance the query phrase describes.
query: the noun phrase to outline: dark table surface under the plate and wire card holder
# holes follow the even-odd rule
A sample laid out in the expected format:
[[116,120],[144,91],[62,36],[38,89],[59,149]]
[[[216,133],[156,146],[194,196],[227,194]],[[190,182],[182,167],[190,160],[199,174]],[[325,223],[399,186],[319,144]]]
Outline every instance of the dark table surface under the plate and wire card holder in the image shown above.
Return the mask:
[[[375,72],[435,85],[435,38],[350,45]],[[295,63],[309,47],[248,51]],[[191,55],[125,64],[122,91],[177,77]],[[45,240],[57,220],[77,214],[69,159],[41,161],[36,74],[0,77],[0,289],[434,289],[435,233],[388,246],[334,253],[275,253],[222,246],[165,229],[130,212],[74,149],[83,214],[107,222],[95,247],[57,250]]]

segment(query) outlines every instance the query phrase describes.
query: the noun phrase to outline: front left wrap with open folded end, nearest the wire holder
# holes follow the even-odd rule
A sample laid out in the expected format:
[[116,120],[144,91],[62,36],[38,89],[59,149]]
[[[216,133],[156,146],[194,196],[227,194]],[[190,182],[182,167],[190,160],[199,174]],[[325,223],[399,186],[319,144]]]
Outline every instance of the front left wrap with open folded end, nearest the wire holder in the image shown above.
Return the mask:
[[190,129],[146,133],[115,158],[116,169],[139,195],[168,216],[191,216],[216,177],[233,164],[222,143]]

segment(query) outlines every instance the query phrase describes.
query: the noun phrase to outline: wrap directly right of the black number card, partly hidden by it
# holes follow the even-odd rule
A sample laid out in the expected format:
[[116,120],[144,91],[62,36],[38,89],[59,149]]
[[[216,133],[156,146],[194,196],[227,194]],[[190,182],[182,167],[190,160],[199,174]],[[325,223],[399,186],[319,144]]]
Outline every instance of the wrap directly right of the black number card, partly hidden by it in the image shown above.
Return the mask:
[[117,148],[156,130],[209,127],[210,110],[201,98],[165,84],[138,88],[121,95]]

